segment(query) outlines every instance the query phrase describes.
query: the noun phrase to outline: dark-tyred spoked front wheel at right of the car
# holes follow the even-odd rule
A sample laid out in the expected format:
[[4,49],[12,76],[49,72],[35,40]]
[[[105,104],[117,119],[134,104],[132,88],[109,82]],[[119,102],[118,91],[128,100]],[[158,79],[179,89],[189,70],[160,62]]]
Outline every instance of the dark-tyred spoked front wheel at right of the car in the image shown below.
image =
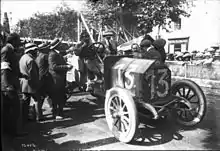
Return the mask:
[[191,108],[178,106],[176,120],[184,126],[194,126],[202,121],[206,113],[206,98],[202,89],[191,80],[180,80],[173,84],[172,94],[185,98]]

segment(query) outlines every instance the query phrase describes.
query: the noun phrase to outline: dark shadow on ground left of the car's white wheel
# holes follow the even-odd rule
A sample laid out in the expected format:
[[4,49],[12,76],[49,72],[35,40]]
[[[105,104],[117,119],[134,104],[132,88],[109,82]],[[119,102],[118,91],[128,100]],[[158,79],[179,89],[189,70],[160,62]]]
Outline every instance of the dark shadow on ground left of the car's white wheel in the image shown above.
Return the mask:
[[[78,95],[78,94],[77,94]],[[77,96],[76,95],[76,96]],[[75,99],[73,96],[70,99]],[[65,118],[62,121],[53,121],[52,115],[47,113],[47,119],[42,123],[30,122],[27,126],[29,135],[23,138],[10,138],[5,136],[5,141],[16,151],[62,151],[75,149],[88,149],[94,146],[106,145],[116,142],[115,138],[109,137],[99,139],[93,142],[80,143],[78,140],[70,140],[61,144],[57,144],[54,139],[62,138],[67,134],[60,130],[57,134],[52,134],[53,129],[63,129],[75,125],[95,121],[98,118],[104,117],[103,100],[97,100],[91,96],[78,97],[78,100],[69,100],[66,103],[64,110]]]

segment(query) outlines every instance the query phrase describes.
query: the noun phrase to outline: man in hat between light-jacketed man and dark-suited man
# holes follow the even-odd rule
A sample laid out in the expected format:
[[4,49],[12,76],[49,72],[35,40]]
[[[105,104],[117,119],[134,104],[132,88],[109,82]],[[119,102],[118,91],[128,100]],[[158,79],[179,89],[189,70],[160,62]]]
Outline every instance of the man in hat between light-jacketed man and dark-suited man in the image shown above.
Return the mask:
[[41,108],[43,105],[43,101],[46,96],[51,95],[50,86],[52,83],[52,77],[49,73],[49,64],[48,64],[48,54],[50,45],[49,43],[42,43],[38,45],[38,55],[35,59],[38,69],[39,69],[39,95],[41,96],[41,100],[39,101],[39,107]]

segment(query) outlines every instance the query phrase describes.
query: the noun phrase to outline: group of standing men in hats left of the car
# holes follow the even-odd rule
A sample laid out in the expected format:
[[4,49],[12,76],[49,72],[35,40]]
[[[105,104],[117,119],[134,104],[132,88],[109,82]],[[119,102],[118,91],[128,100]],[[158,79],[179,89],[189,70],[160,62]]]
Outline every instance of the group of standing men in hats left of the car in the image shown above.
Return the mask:
[[24,44],[16,33],[7,36],[1,49],[1,98],[4,127],[11,134],[23,134],[29,120],[31,98],[37,122],[43,119],[42,105],[46,96],[52,100],[54,119],[62,118],[66,72],[72,65],[67,64],[57,50],[60,43],[56,38],[50,44]]

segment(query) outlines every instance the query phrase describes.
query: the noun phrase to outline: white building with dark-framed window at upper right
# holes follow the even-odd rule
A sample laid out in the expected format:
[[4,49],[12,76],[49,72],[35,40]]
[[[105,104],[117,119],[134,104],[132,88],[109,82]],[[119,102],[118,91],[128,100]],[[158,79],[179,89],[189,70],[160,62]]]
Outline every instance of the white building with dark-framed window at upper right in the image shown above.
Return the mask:
[[[220,45],[220,0],[193,0],[190,17],[180,17],[177,22],[160,30],[167,40],[166,52],[204,51]],[[152,35],[155,37],[157,28]]]

